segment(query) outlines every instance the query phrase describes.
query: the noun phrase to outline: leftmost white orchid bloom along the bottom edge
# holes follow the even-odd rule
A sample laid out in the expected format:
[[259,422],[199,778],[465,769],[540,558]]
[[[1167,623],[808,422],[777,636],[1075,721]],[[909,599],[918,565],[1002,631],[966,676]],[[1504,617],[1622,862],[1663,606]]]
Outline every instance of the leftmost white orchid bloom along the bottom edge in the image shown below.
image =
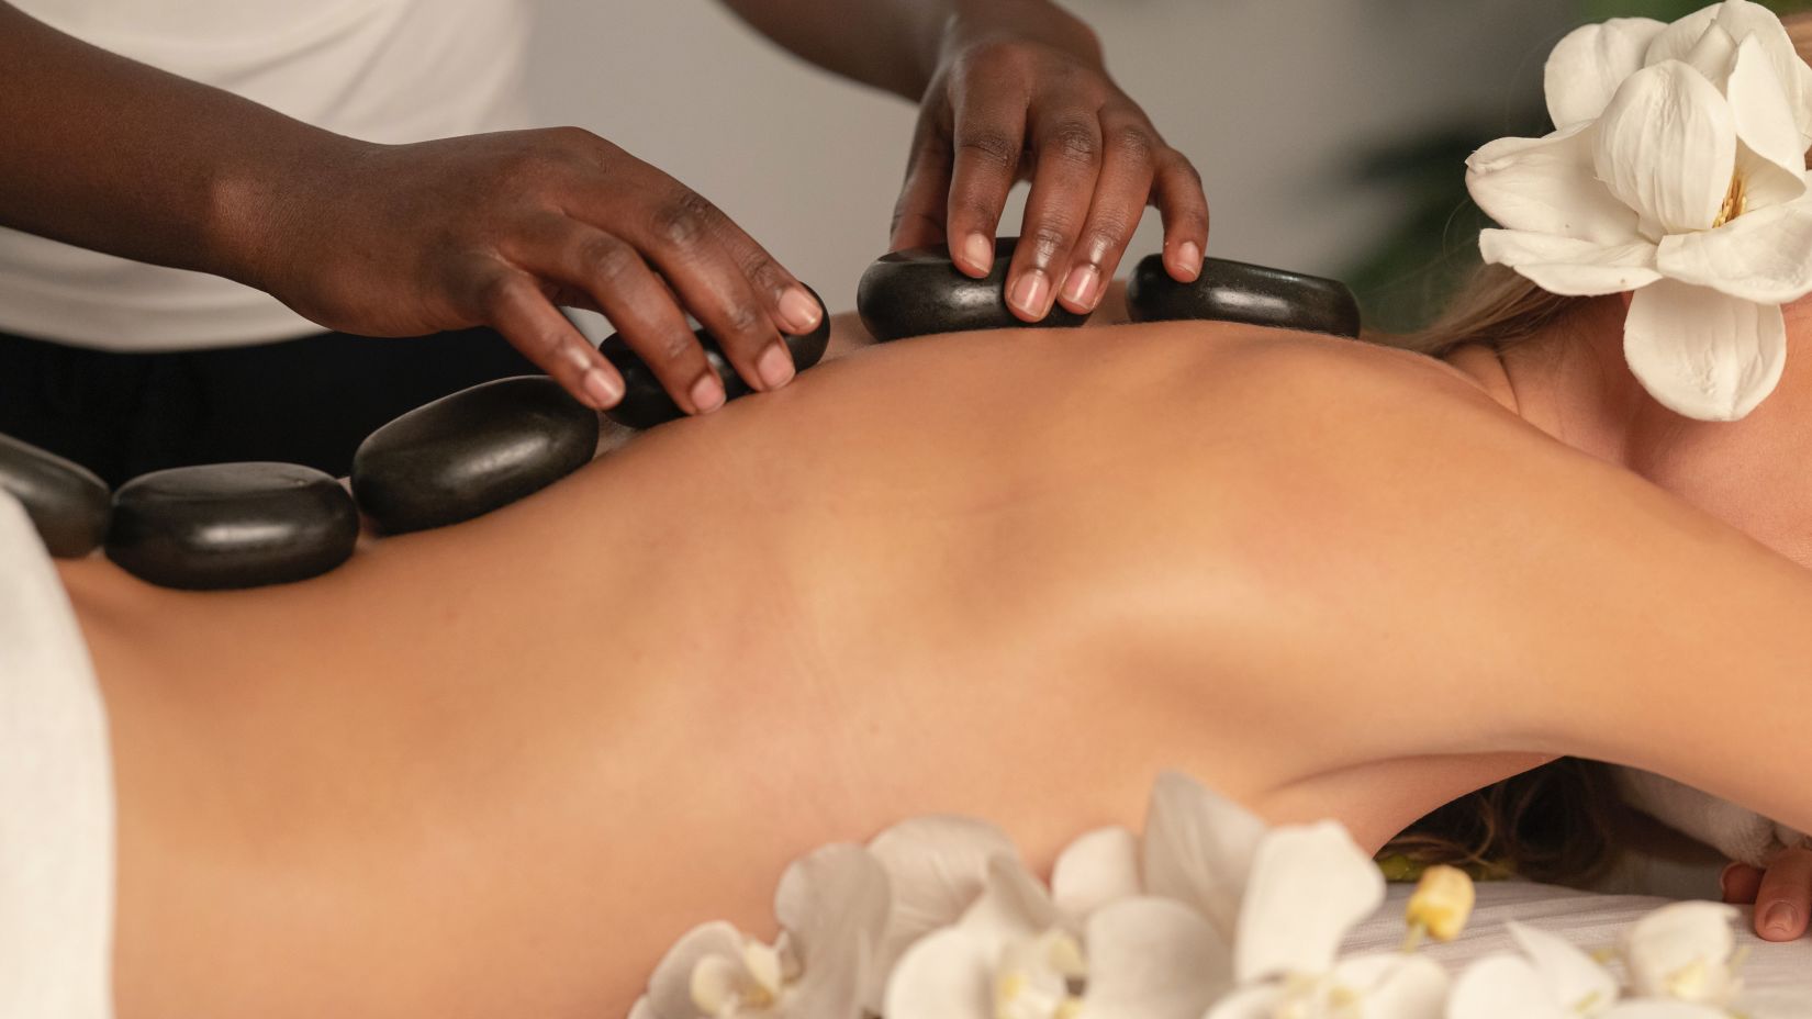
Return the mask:
[[890,916],[888,874],[863,847],[830,845],[786,869],[765,945],[728,923],[681,937],[634,1019],[859,1019]]

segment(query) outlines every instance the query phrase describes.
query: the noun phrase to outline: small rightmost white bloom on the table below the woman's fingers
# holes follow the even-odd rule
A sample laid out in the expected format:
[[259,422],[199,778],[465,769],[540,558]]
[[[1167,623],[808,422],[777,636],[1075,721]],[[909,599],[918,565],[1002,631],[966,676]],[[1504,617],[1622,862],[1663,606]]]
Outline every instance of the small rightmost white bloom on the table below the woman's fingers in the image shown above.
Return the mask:
[[[1727,975],[1736,952],[1734,907],[1720,903],[1674,903],[1636,921],[1624,932],[1624,965],[1631,988],[1645,997],[1678,997],[1700,1004],[1729,1004],[1734,994]],[[1682,981],[1683,974],[1705,979]]]

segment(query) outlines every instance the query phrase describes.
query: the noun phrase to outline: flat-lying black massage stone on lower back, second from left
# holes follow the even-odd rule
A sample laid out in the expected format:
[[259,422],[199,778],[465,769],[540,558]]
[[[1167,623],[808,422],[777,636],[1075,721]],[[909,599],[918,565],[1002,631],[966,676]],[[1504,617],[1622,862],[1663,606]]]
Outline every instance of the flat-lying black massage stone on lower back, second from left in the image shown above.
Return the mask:
[[114,493],[107,558],[163,587],[290,584],[346,562],[359,510],[297,464],[207,464],[136,477]]

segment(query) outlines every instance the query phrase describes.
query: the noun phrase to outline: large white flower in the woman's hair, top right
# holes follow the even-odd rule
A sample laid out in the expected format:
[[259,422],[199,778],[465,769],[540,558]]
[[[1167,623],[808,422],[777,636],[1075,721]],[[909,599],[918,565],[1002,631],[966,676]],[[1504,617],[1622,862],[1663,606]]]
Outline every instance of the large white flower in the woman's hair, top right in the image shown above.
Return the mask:
[[1506,227],[1480,234],[1484,259],[1553,294],[1634,290],[1624,354],[1649,393],[1747,415],[1781,377],[1781,305],[1812,292],[1812,67],[1772,11],[1725,0],[1578,29],[1546,85],[1553,134],[1466,163]]

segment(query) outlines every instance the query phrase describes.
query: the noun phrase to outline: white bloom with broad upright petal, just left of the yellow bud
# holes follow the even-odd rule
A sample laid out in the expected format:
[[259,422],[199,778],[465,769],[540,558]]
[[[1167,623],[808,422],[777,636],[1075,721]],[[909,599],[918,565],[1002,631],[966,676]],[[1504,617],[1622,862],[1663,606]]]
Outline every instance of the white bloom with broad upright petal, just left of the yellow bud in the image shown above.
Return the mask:
[[1207,1019],[1441,1019],[1448,972],[1424,956],[1339,957],[1384,903],[1384,876],[1337,823],[1259,839],[1239,905],[1239,990]]

